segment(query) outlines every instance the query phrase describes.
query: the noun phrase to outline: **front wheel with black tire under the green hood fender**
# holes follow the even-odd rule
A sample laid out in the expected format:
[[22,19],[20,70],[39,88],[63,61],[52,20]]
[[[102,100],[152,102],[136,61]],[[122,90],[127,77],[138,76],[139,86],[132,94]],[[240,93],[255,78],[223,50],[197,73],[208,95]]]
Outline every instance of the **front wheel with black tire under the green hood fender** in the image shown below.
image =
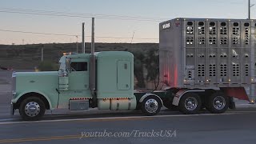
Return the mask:
[[45,112],[45,103],[38,97],[26,98],[19,106],[19,114],[25,121],[38,121],[42,118]]

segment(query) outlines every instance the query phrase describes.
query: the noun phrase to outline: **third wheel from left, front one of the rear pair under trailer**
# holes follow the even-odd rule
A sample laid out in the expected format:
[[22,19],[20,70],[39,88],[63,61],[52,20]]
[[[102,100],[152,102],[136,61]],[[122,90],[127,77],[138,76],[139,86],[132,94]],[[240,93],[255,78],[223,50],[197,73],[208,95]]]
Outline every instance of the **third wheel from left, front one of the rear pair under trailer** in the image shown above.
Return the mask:
[[[191,106],[189,106],[191,102],[192,104]],[[201,98],[198,96],[198,94],[195,93],[184,94],[180,99],[180,102],[178,103],[178,109],[183,114],[198,114],[198,111],[201,109],[201,106]]]

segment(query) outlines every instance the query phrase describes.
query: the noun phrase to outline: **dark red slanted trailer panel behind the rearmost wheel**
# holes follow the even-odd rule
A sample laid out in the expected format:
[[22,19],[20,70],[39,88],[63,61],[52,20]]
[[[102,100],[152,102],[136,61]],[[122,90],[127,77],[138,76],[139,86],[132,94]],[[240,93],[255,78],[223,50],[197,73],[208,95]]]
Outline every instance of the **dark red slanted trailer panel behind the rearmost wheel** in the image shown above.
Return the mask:
[[244,87],[222,87],[220,89],[226,94],[226,96],[250,102]]

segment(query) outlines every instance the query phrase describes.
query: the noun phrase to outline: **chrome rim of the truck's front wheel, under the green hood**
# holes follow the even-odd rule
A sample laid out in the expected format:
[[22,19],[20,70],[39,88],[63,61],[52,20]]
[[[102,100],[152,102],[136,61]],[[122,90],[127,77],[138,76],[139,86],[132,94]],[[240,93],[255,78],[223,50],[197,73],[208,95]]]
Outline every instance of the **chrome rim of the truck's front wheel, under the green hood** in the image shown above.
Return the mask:
[[28,102],[25,106],[25,113],[29,117],[35,117],[40,113],[38,102]]

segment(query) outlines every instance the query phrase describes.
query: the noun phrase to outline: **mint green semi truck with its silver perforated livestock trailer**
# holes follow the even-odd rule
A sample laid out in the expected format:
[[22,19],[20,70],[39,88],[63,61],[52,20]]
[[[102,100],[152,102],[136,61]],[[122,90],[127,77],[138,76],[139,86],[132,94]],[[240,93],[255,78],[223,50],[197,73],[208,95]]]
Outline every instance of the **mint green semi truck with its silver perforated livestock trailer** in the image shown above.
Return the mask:
[[[58,71],[13,73],[11,113],[39,120],[46,110],[224,113],[234,98],[254,102],[255,21],[175,18],[159,24],[160,90],[134,91],[127,51],[63,55]],[[94,30],[92,30],[94,32]],[[94,35],[94,33],[92,34]],[[92,37],[93,38],[93,37]],[[248,95],[250,98],[248,98]]]

